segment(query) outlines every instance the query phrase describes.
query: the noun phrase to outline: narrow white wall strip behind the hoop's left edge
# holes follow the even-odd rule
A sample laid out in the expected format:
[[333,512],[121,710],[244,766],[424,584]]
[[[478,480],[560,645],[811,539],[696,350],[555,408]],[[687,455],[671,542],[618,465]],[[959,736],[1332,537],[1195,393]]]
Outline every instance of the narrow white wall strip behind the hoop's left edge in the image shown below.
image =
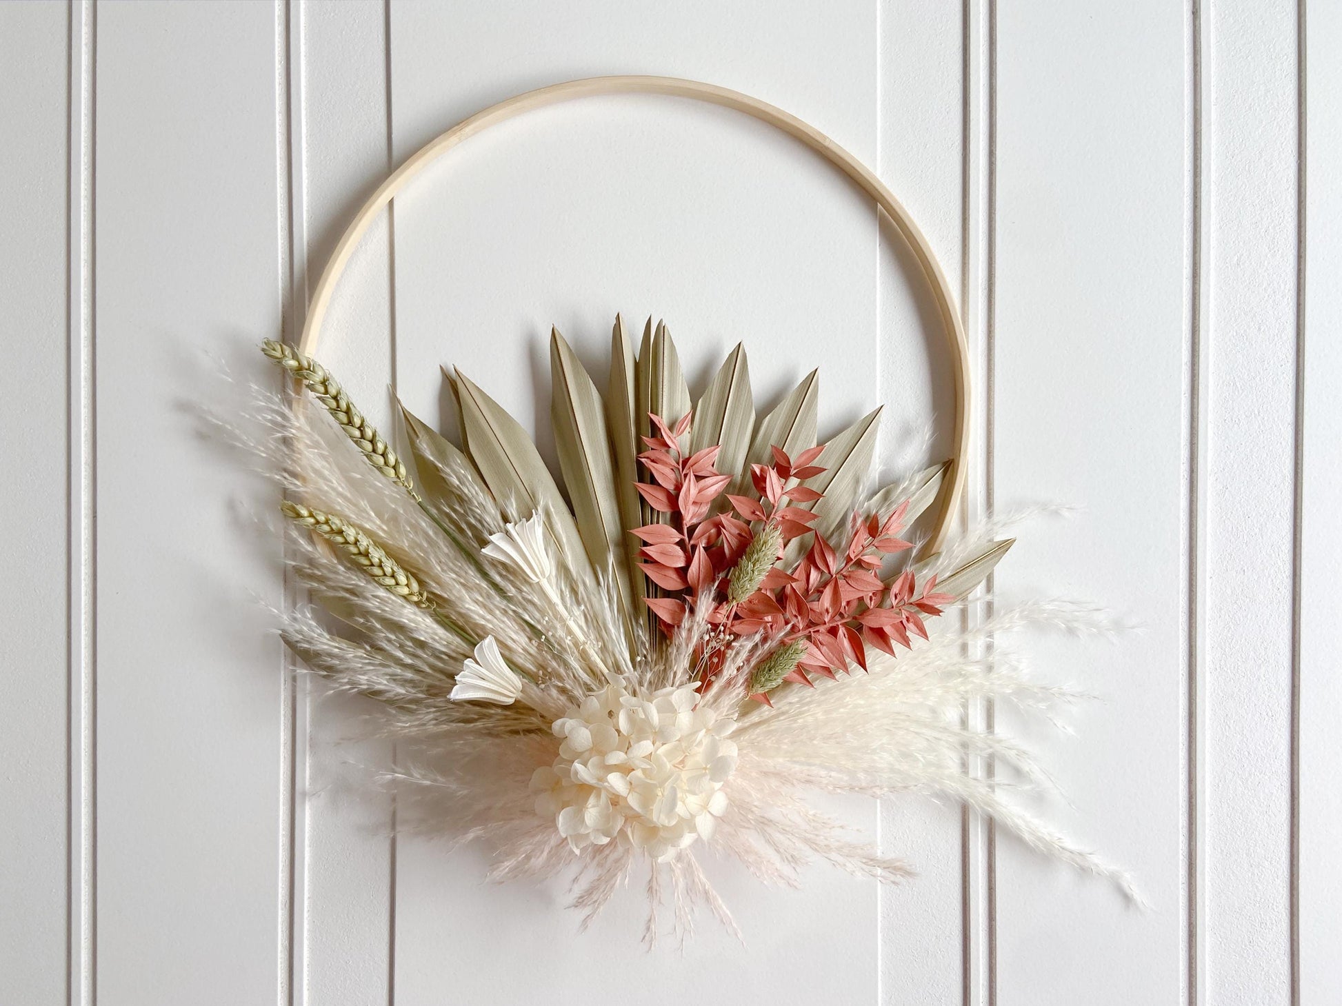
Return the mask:
[[[290,8],[294,331],[345,221],[389,169],[385,20],[380,0]],[[388,248],[384,219],[336,292],[321,355],[364,413],[391,432]],[[393,818],[391,798],[369,785],[369,773],[389,763],[391,744],[360,736],[376,712],[370,702],[327,695],[315,680],[301,683],[299,696],[306,744],[295,750],[295,1001],[388,1001]]]

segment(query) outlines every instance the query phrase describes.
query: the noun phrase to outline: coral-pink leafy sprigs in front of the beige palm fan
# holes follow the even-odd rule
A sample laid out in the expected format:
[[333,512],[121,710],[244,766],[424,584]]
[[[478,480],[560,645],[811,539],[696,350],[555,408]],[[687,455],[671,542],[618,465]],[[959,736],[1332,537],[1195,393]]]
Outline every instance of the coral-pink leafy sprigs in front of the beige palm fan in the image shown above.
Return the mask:
[[[847,541],[836,550],[812,530],[816,515],[807,508],[823,498],[804,483],[824,473],[815,464],[824,448],[808,448],[793,459],[773,447],[770,464],[750,467],[756,495],[726,494],[733,512],[714,514],[714,503],[731,482],[714,467],[721,448],[683,452],[688,414],[675,427],[659,416],[650,420],[655,436],[643,437],[648,449],[639,460],[651,482],[640,482],[637,490],[664,516],[633,531],[643,542],[640,567],[656,585],[647,605],[668,633],[691,610],[715,626],[698,655],[705,679],[721,669],[726,648],[743,636],[762,634],[778,645],[801,641],[805,651],[786,680],[808,685],[811,675],[833,677],[854,665],[866,669],[867,647],[894,655],[896,645],[907,648],[914,636],[927,638],[925,617],[941,614],[953,598],[934,592],[935,577],[922,589],[911,570],[888,582],[880,578],[886,555],[913,547],[899,538],[907,502],[884,519],[854,515]],[[790,569],[776,559],[753,594],[731,602],[733,567],[770,527],[778,533],[780,559],[796,538],[812,535],[811,547]]]

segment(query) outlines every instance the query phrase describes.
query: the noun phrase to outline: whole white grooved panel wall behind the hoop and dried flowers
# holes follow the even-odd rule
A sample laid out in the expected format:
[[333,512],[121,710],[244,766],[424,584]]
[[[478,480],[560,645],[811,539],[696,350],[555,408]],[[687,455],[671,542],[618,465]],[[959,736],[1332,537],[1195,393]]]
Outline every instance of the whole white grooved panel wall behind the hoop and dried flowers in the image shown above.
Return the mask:
[[[1342,4],[56,0],[0,4],[0,1002],[1342,1001]],[[368,711],[295,679],[272,492],[193,400],[271,381],[345,220],[510,94],[650,72],[788,109],[938,248],[974,359],[966,516],[1028,527],[992,583],[1139,628],[1037,640],[1100,696],[1036,746],[1041,812],[1150,901],[958,807],[836,813],[919,867],[800,891],[713,864],[745,930],[586,934],[487,850],[393,837]],[[741,115],[589,99],[472,141],[365,237],[322,355],[380,424],[440,364],[539,421],[550,323],[592,364],[666,317],[691,380],[821,365],[823,433],[886,405],[946,449],[929,299],[871,205]],[[207,357],[204,353],[212,354]],[[213,361],[213,362],[212,362]],[[931,444],[921,437],[939,424]]]

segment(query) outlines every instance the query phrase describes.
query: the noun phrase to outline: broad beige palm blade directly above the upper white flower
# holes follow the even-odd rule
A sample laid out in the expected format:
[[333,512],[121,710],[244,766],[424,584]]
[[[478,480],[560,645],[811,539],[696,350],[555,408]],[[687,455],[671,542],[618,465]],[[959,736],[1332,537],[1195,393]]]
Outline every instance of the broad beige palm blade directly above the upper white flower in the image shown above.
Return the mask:
[[580,581],[595,582],[573,514],[531,437],[460,370],[456,372],[456,389],[466,451],[509,520],[542,514],[556,557],[568,563]]

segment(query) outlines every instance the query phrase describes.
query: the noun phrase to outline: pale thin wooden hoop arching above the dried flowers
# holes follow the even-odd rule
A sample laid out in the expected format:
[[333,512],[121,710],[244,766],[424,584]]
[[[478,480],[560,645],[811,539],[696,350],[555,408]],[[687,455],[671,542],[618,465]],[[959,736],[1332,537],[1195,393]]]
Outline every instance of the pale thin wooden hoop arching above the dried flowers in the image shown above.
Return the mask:
[[954,451],[950,457],[950,479],[949,484],[942,486],[941,511],[937,515],[937,523],[926,546],[929,553],[937,551],[946,538],[946,533],[958,510],[960,498],[965,491],[965,459],[969,452],[969,345],[965,339],[965,327],[960,319],[960,310],[956,307],[950,284],[946,282],[946,274],[942,271],[941,263],[937,262],[937,255],[933,252],[931,245],[927,244],[923,232],[913,221],[913,217],[909,216],[909,211],[903,208],[894,193],[864,164],[819,129],[807,125],[796,115],[789,115],[782,109],[777,109],[768,102],[741,94],[739,91],[675,76],[593,76],[527,91],[463,119],[436,139],[421,146],[400,168],[392,172],[386,181],[378,185],[377,190],[369,196],[358,213],[354,215],[354,219],[350,220],[349,227],[345,228],[345,233],[341,235],[340,243],[336,245],[336,251],[331,254],[330,262],[322,270],[317,288],[313,291],[313,299],[307,306],[307,317],[303,322],[303,334],[298,342],[299,351],[309,355],[315,351],[322,333],[322,322],[326,318],[326,309],[330,306],[331,291],[345,272],[345,266],[349,264],[354,248],[358,245],[364,232],[373,223],[378,211],[389,204],[401,189],[433,161],[476,133],[483,133],[490,126],[526,111],[577,98],[612,94],[660,94],[675,98],[690,98],[733,109],[761,122],[766,122],[794,139],[801,141],[839,168],[899,228],[899,232],[913,248],[918,264],[922,266],[923,275],[931,286],[937,307],[941,311],[946,347],[950,351],[951,374],[956,382],[956,427],[953,435]]

